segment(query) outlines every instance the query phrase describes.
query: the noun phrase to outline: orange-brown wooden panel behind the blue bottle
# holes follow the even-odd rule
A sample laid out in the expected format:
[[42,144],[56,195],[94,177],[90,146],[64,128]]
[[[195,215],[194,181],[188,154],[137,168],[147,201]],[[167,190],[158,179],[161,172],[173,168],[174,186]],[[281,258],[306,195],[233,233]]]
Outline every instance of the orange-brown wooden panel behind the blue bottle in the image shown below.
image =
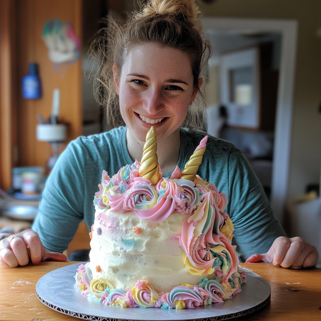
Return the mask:
[[37,114],[47,119],[52,109],[52,94],[60,89],[58,121],[68,124],[66,142],[82,134],[82,69],[81,59],[54,71],[48,49],[41,38],[47,20],[58,18],[71,22],[75,34],[82,39],[82,0],[20,0],[18,15],[18,79],[28,73],[28,63],[36,62],[42,85],[39,100],[22,99],[18,91],[18,166],[45,167],[52,149],[47,142],[36,140]]

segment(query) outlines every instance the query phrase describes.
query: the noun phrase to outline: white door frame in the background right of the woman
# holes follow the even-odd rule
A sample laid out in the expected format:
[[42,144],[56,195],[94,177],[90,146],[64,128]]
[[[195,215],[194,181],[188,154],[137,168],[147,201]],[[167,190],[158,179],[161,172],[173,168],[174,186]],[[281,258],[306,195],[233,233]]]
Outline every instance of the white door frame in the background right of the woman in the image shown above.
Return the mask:
[[[264,37],[270,38],[270,40],[271,38],[280,39],[277,97],[275,120],[273,121],[273,161],[271,164],[270,203],[275,217],[282,224],[283,210],[288,191],[297,22],[289,20],[210,17],[202,18],[201,20],[205,34],[207,34],[210,39],[212,34],[212,41],[215,38],[213,37],[215,34],[217,35],[217,39],[223,35],[225,35],[225,37],[226,35],[234,35],[236,38],[239,38],[241,35],[249,35],[248,39],[252,39],[252,42],[255,38]],[[256,37],[250,37],[250,35],[255,35]],[[248,41],[249,40],[247,40],[247,42]],[[234,42],[234,45],[235,44],[236,40]],[[255,46],[257,46],[257,44],[255,44]],[[220,73],[221,71],[217,70],[217,72]],[[240,77],[242,78],[242,73],[243,77],[245,77],[248,72],[248,69],[236,71],[236,74],[239,74],[239,76],[234,76],[234,78],[236,78],[236,80],[234,80],[239,81],[238,79],[240,79]],[[230,78],[233,80],[233,76],[230,76]],[[234,86],[234,88],[238,89],[238,99],[247,103],[249,103],[250,96],[254,97],[253,93],[249,94],[249,92],[252,92],[254,88],[250,88],[248,84],[248,82],[242,83],[241,81],[237,84],[239,87]],[[241,85],[247,86],[242,87]],[[216,84],[216,86],[221,93],[221,85]],[[234,94],[236,95],[236,93]],[[231,95],[230,100],[233,101],[233,96]],[[253,124],[255,125],[255,121]],[[244,130],[244,127],[246,126],[239,126],[239,129]],[[251,130],[253,132],[257,131],[258,126],[256,126],[256,128],[251,128]]]

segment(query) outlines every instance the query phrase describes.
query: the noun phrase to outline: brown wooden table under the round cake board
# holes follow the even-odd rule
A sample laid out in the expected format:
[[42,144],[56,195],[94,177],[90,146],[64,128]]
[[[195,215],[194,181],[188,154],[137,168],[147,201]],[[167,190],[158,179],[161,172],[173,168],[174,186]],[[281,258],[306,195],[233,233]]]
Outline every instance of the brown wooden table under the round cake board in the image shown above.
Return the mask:
[[[36,297],[36,282],[46,273],[76,262],[42,262],[38,266],[0,266],[0,320],[80,320],[56,312]],[[241,266],[261,275],[271,286],[271,303],[235,320],[321,320],[321,269],[291,270],[267,263]]]

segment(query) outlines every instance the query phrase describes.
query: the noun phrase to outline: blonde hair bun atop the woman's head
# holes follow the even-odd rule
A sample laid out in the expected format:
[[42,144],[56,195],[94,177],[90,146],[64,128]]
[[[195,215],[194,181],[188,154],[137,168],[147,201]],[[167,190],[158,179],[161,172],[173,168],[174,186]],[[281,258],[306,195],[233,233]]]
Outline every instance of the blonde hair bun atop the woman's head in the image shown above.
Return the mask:
[[137,15],[137,18],[152,14],[182,14],[186,20],[199,28],[201,23],[196,19],[199,13],[194,0],[150,0],[143,7],[142,13]]

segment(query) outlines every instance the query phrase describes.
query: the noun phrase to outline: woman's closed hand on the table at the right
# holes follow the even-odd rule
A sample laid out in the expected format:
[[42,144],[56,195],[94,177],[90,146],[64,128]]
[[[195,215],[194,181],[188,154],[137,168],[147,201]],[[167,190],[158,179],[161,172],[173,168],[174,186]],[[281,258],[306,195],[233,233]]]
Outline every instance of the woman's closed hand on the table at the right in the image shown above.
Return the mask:
[[264,254],[253,254],[245,262],[267,262],[282,267],[297,268],[312,267],[317,264],[319,255],[316,247],[306,243],[299,237],[276,238],[270,249]]

